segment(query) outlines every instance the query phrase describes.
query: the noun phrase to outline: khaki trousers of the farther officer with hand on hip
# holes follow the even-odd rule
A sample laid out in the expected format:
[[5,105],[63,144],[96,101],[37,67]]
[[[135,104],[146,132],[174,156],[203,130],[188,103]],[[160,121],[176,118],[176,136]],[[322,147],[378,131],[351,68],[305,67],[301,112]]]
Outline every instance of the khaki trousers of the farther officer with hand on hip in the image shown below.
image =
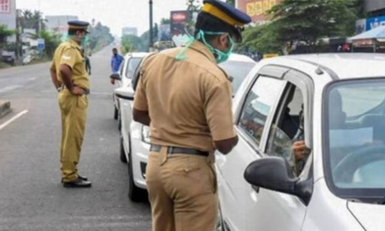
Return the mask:
[[87,96],[75,96],[64,89],[59,93],[59,106],[62,116],[60,169],[63,182],[69,182],[78,177],[77,164],[86,124]]

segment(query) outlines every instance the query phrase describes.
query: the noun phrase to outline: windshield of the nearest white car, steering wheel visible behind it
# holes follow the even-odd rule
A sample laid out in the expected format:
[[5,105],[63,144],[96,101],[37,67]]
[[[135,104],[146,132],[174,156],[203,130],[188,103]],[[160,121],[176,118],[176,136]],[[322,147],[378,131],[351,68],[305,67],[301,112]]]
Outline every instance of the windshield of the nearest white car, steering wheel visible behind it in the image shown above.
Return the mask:
[[385,79],[332,84],[325,97],[328,184],[341,195],[385,195]]

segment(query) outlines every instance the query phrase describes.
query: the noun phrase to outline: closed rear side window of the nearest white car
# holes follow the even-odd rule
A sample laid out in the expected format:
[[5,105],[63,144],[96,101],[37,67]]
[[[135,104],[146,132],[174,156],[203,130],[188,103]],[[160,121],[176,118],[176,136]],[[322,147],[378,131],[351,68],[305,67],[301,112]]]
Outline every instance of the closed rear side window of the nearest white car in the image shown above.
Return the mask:
[[248,93],[238,126],[259,146],[268,115],[277,101],[284,81],[260,76]]

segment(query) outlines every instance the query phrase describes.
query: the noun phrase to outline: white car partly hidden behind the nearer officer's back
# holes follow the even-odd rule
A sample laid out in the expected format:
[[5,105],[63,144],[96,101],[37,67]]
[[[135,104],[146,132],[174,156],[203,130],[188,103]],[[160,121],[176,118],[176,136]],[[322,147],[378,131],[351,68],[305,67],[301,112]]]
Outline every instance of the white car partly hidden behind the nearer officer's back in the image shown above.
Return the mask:
[[[234,92],[237,91],[242,81],[256,62],[244,55],[232,54],[229,60],[220,66],[233,79]],[[136,71],[136,73],[138,70]],[[146,194],[145,172],[147,157],[150,149],[149,128],[132,120],[132,99],[138,81],[138,73],[134,75],[131,87],[123,87],[115,90],[115,94],[125,99],[121,107],[121,151],[120,156],[125,156],[128,162],[129,198],[133,201],[141,200]],[[130,102],[131,100],[131,102]]]

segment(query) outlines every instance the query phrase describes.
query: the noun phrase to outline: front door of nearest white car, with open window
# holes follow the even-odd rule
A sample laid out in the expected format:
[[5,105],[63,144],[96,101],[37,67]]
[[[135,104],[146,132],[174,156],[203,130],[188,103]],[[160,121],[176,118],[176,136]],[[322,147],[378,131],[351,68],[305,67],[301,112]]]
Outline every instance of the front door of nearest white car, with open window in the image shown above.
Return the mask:
[[[306,141],[307,144],[310,143],[311,129],[309,124],[311,123],[309,111],[311,108],[311,94],[305,74],[290,70],[285,74],[284,80],[287,81],[287,84],[273,112],[273,121],[267,127],[269,132],[263,134],[266,136],[266,139],[264,139],[266,143],[262,150],[263,156],[278,156],[290,161],[290,158],[295,159],[291,151],[291,142],[290,145],[287,145],[287,142],[282,142],[283,136],[286,136],[289,141],[300,140]],[[303,113],[304,119],[299,118],[301,113]],[[296,118],[299,119],[296,120]],[[292,123],[294,126],[290,128],[287,123]],[[290,131],[293,130],[293,127],[297,127],[296,132]],[[301,132],[306,135],[298,136],[298,133],[301,134]],[[306,159],[304,164],[305,162]],[[294,161],[294,163],[296,162]],[[300,167],[293,164],[291,170],[294,174],[301,176],[311,174],[310,171],[301,172],[302,169],[297,168]],[[245,230],[301,230],[307,207],[299,197],[264,188],[253,187],[253,190],[255,194],[245,197],[244,201],[246,212],[249,214]]]

